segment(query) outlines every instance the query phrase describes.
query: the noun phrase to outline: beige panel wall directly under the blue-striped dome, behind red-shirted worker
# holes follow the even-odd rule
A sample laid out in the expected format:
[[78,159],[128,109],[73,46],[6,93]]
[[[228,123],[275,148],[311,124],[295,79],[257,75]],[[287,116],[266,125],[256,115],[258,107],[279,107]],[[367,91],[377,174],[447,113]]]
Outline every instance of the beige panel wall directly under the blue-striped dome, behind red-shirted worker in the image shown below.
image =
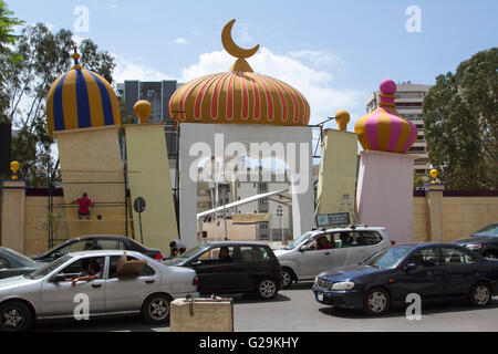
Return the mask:
[[[118,126],[55,132],[64,188],[65,219],[70,238],[84,235],[126,233],[125,186]],[[77,205],[87,192],[95,202],[91,219],[79,220]],[[102,219],[97,219],[97,215]]]

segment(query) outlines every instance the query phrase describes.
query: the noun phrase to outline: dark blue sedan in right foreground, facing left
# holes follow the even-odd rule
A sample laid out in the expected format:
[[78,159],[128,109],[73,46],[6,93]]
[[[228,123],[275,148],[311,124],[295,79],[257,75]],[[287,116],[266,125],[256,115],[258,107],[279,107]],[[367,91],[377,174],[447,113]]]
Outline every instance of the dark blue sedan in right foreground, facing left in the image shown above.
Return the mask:
[[318,302],[381,315],[411,293],[423,302],[469,299],[476,306],[498,294],[498,261],[464,247],[419,243],[392,247],[346,268],[320,273]]

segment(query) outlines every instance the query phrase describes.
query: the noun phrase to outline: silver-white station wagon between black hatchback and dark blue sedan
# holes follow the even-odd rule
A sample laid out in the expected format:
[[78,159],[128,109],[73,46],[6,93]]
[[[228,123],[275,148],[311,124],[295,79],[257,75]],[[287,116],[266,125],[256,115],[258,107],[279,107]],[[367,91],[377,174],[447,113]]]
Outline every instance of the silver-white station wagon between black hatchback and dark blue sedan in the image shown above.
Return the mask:
[[384,228],[356,226],[305,232],[274,254],[282,267],[282,288],[288,288],[324,270],[360,263],[393,244]]

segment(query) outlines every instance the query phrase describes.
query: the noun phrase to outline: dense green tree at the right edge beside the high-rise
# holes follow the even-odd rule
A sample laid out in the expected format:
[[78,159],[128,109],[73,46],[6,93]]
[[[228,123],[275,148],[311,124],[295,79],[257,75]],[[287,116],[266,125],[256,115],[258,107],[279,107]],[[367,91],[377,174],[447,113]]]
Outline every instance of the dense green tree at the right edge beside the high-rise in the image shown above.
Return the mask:
[[498,190],[498,48],[436,77],[424,101],[429,159],[450,189]]

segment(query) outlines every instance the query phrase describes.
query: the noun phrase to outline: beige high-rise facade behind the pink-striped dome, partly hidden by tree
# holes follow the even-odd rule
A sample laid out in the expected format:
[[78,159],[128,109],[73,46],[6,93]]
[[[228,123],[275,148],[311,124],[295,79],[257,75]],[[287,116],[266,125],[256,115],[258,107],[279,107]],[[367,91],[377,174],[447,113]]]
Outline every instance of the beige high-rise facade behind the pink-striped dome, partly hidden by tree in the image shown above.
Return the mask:
[[[424,98],[432,85],[421,85],[412,83],[398,83],[396,91],[396,110],[397,112],[408,121],[412,121],[418,132],[417,139],[413,144],[408,154],[417,155],[415,160],[415,174],[428,175],[430,164],[428,159],[427,143],[424,135],[424,119],[422,116],[422,110],[424,106]],[[366,102],[366,113],[378,107],[378,95],[381,92],[373,92]]]

